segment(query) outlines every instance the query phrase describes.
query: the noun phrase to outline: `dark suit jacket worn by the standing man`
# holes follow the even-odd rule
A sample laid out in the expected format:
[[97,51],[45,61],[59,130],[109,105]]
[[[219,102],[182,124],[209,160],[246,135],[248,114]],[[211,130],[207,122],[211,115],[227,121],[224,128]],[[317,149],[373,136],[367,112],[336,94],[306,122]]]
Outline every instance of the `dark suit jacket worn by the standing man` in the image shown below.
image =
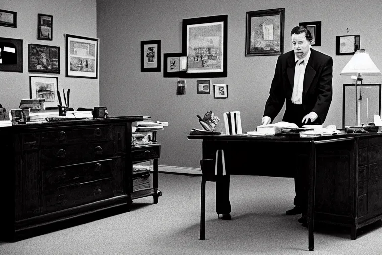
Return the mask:
[[[322,124],[332,101],[333,59],[312,48],[310,51],[302,91],[303,114],[306,115],[311,111],[317,113],[318,118],[315,124]],[[293,50],[286,52],[277,59],[275,75],[263,115],[271,117],[272,121],[286,101],[283,121],[295,123],[295,113],[292,110],[294,104],[291,101],[295,66]],[[303,116],[300,122],[302,118]]]

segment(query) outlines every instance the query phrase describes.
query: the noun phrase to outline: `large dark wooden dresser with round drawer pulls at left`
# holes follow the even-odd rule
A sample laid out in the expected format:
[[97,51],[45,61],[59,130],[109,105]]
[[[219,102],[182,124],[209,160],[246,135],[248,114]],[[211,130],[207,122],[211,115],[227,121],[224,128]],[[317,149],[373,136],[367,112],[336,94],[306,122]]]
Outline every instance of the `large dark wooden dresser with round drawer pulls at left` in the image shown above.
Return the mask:
[[[107,208],[129,209],[131,123],[141,120],[142,116],[111,117],[0,128],[1,240]],[[159,149],[160,145],[145,148],[144,158],[159,158]],[[135,161],[137,156],[139,152]],[[152,177],[155,189],[136,197],[153,195],[157,202],[155,178],[157,172]]]

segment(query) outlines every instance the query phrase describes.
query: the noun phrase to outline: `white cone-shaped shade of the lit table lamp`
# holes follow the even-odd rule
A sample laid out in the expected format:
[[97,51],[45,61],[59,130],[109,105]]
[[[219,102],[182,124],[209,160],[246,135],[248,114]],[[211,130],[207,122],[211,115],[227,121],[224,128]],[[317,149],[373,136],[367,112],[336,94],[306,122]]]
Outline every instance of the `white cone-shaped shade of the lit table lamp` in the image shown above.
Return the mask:
[[381,75],[381,71],[365,50],[357,50],[340,75]]

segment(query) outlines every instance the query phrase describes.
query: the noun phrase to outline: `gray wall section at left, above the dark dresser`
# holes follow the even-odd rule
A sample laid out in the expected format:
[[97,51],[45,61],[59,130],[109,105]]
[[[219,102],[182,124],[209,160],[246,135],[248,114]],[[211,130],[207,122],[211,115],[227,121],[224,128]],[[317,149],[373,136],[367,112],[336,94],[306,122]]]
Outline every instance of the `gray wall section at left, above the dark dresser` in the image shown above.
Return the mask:
[[[59,89],[71,90],[70,102],[77,107],[99,105],[99,79],[65,77],[64,34],[96,38],[96,0],[0,0],[0,9],[17,12],[17,28],[0,26],[0,37],[23,39],[23,72],[0,72],[0,103],[18,108],[29,98],[29,76],[58,77]],[[53,41],[37,40],[37,14],[53,16]],[[60,47],[60,74],[28,73],[28,44]]]

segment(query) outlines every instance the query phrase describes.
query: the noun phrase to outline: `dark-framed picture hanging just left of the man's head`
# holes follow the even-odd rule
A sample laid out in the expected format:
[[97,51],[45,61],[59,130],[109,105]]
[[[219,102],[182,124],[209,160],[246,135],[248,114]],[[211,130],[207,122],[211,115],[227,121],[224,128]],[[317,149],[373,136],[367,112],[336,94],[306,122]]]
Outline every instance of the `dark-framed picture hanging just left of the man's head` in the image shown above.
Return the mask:
[[246,13],[245,56],[282,55],[285,8]]

